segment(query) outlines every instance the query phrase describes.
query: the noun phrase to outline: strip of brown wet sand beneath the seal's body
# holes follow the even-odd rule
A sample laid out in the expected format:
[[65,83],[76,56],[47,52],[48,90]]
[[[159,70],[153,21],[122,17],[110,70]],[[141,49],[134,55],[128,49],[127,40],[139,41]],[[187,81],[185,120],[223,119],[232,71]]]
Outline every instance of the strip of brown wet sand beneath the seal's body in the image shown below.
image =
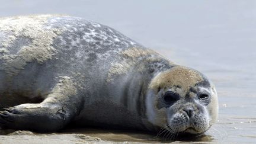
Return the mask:
[[133,130],[110,129],[64,129],[56,133],[35,133],[26,130],[2,130],[0,142],[2,143],[183,143],[183,142],[209,142],[213,140],[210,135],[198,137],[177,137],[163,139],[149,132]]

